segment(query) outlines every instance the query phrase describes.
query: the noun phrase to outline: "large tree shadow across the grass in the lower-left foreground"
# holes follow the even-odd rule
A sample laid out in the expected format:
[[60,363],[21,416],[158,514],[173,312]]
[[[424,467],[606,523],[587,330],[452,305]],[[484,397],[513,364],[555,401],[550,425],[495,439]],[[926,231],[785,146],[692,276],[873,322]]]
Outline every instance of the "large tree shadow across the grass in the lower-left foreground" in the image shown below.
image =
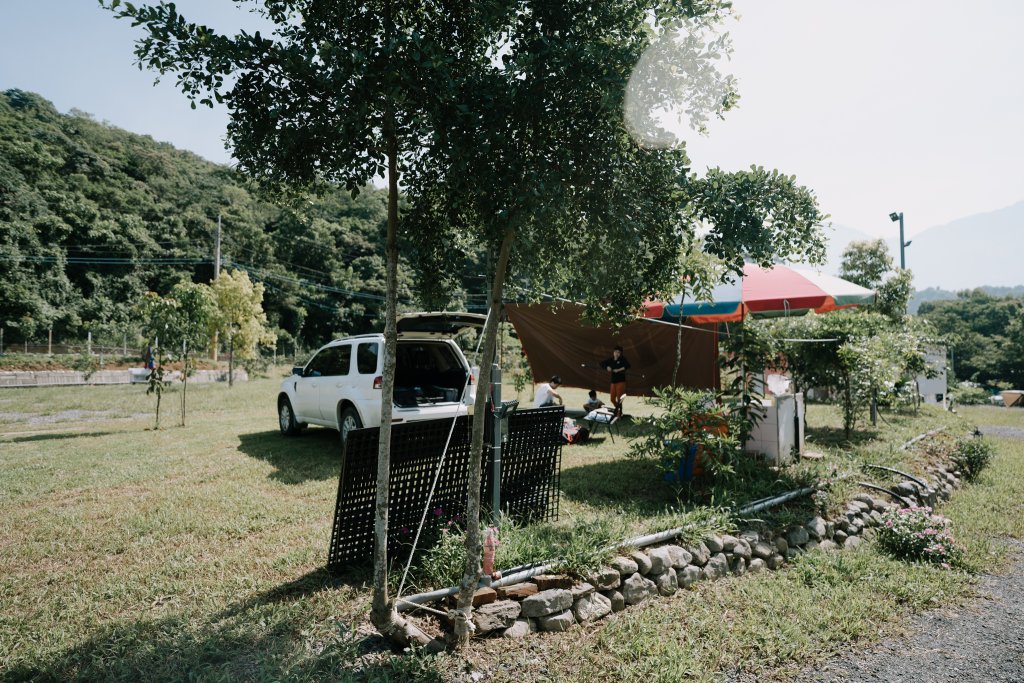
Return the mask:
[[[106,625],[62,651],[0,670],[11,681],[333,680],[442,681],[439,665],[423,655],[394,655],[375,633],[337,615],[323,625],[318,600],[304,598],[343,589],[317,570],[262,594],[197,617],[174,613]],[[355,620],[353,622],[353,620]],[[346,623],[346,621],[348,623]],[[362,663],[358,658],[371,655]]]

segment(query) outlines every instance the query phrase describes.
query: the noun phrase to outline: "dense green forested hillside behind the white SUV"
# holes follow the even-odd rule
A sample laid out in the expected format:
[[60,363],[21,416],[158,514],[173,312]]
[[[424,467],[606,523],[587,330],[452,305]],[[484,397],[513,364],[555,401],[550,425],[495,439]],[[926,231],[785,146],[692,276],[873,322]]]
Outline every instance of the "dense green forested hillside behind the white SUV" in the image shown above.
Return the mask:
[[[378,330],[385,212],[374,188],[275,204],[230,168],[87,114],[62,115],[33,93],[0,93],[8,344],[45,340],[51,327],[60,340],[133,339],[132,307],[146,291],[210,281],[218,215],[223,267],[264,284],[282,343]],[[413,305],[409,285],[399,297]]]

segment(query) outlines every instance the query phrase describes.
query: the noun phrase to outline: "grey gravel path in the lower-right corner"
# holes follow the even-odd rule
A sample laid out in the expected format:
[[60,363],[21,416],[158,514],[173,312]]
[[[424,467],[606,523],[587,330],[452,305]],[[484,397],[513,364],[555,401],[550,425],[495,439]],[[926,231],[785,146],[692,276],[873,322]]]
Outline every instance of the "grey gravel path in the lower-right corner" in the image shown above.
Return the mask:
[[[982,427],[992,436],[1024,438],[1024,430]],[[866,652],[837,657],[804,672],[803,681],[1024,681],[1024,543],[1008,540],[1017,561],[1004,575],[982,574],[980,596],[958,609],[915,616],[913,635]]]

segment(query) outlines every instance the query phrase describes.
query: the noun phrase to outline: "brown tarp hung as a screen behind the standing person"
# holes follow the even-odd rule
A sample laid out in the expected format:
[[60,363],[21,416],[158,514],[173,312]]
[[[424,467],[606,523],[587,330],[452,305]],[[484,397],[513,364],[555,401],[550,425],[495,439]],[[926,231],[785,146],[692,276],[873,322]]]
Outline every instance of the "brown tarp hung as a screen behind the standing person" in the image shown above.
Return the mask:
[[[601,362],[615,345],[630,361],[626,393],[649,396],[651,389],[672,384],[676,366],[676,335],[672,324],[637,319],[618,330],[581,323],[579,304],[505,304],[537,382],[561,375],[562,383],[582,389],[608,391],[608,373]],[[683,329],[679,384],[694,389],[718,389],[718,333],[716,325]]]

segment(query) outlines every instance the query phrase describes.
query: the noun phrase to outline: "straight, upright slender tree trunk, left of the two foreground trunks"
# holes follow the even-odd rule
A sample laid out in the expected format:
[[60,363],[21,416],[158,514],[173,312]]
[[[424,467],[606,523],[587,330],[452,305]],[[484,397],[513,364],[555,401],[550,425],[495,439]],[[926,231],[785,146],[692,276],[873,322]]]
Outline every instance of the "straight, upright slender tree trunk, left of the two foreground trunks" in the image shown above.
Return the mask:
[[387,587],[387,525],[391,476],[391,415],[394,408],[394,368],[397,348],[398,305],[398,141],[394,117],[385,122],[388,157],[387,239],[384,246],[387,294],[384,308],[384,379],[381,386],[381,427],[377,449],[377,502],[374,518],[374,596],[370,621],[381,635],[406,647],[426,645],[430,638],[398,614]]

